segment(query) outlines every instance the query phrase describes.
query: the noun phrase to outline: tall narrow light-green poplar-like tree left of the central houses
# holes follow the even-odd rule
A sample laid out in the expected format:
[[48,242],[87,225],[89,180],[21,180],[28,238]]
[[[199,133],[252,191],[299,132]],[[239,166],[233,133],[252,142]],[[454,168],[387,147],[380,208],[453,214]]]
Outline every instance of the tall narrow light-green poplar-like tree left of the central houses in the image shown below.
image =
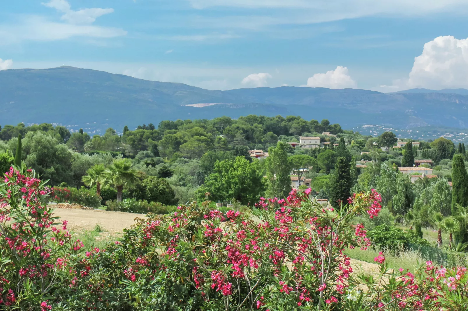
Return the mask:
[[266,195],[270,198],[285,198],[291,191],[291,177],[284,142],[278,141],[276,147],[268,148],[268,154],[265,159],[268,183]]

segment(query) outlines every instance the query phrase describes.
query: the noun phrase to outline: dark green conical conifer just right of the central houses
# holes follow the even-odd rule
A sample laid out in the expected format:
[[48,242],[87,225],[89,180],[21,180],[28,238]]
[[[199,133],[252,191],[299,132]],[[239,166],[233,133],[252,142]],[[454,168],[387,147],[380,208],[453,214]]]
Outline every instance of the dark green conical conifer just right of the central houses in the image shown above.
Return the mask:
[[351,191],[350,163],[345,157],[336,159],[335,170],[330,177],[330,204],[339,207],[340,202],[347,203]]

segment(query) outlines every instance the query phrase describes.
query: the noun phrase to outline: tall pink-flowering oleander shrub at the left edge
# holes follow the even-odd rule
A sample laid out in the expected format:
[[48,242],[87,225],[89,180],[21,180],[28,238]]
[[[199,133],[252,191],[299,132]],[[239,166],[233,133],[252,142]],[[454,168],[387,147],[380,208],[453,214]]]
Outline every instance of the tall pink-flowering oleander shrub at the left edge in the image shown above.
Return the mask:
[[0,187],[0,307],[50,310],[51,292],[69,256],[82,243],[71,240],[67,222],[52,217],[44,183],[33,170],[11,168]]

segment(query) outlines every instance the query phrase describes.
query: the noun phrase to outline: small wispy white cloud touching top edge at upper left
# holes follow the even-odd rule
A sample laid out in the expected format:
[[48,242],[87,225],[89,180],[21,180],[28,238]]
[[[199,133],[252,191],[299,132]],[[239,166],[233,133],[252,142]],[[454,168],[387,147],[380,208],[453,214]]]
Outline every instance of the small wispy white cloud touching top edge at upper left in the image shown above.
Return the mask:
[[114,12],[112,8],[84,8],[78,11],[73,11],[70,4],[66,0],[51,0],[43,3],[46,7],[53,7],[57,11],[63,13],[61,19],[72,24],[92,24],[99,16]]

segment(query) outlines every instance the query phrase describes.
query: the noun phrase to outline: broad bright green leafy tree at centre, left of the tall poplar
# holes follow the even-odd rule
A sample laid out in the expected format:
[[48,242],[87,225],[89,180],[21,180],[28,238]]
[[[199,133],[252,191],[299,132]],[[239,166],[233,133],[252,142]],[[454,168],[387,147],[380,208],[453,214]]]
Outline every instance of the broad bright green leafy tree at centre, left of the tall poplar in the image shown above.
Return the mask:
[[265,191],[260,163],[250,163],[243,156],[235,160],[216,161],[214,171],[205,180],[205,186],[199,188],[198,196],[210,192],[215,201],[236,199],[243,205],[253,205]]

